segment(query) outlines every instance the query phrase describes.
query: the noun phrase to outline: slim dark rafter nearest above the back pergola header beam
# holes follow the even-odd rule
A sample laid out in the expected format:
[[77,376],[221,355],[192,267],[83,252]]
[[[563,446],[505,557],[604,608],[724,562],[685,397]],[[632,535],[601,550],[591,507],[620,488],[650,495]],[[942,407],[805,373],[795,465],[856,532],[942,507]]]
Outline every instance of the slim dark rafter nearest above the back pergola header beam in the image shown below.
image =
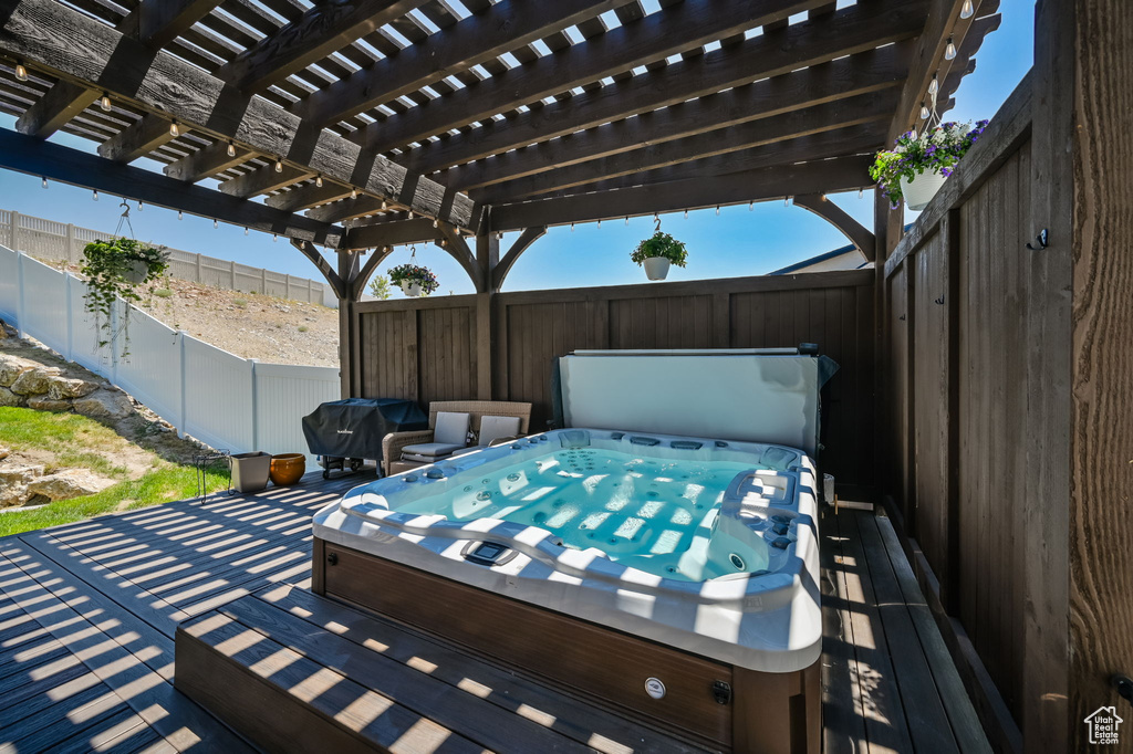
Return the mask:
[[[776,142],[751,149],[729,154],[691,160],[667,168],[657,168],[639,173],[629,173],[621,178],[596,181],[577,186],[550,196],[563,197],[591,191],[611,191],[637,186],[655,186],[672,181],[702,180],[710,181],[717,175],[739,171],[752,171],[773,165],[830,160],[847,155],[876,152],[885,138],[884,123],[853,126],[836,131],[825,131],[803,136],[787,142]],[[864,173],[866,185],[869,174]],[[544,197],[546,198],[546,197]],[[501,203],[502,204],[502,203]]]

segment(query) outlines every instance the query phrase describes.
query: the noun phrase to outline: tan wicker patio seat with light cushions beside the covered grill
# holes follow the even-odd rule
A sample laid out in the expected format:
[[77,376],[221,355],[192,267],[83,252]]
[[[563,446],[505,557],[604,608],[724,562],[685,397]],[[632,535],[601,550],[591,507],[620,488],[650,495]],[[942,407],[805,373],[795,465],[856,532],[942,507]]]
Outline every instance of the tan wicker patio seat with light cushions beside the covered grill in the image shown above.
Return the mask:
[[[459,443],[459,447],[446,452],[440,452],[437,447],[424,447],[435,445],[438,430],[451,431],[446,417],[442,414],[467,414],[467,428],[471,429],[477,440],[472,447],[467,447],[467,442]],[[484,420],[487,419],[487,422]],[[511,419],[511,421],[508,421]],[[516,425],[514,419],[519,420]],[[453,452],[470,453],[480,449],[492,443],[502,442],[512,436],[521,436],[528,432],[528,425],[531,420],[531,404],[513,401],[434,401],[428,406],[428,429],[411,432],[391,432],[382,440],[382,464],[385,474],[400,473],[415,466],[433,463],[435,461],[450,457]],[[438,423],[440,421],[440,423]],[[459,427],[459,425],[458,425]],[[514,429],[513,429],[514,428]],[[445,435],[440,439],[453,440],[453,436]],[[454,444],[452,442],[446,444]],[[419,451],[425,449],[426,453]]]

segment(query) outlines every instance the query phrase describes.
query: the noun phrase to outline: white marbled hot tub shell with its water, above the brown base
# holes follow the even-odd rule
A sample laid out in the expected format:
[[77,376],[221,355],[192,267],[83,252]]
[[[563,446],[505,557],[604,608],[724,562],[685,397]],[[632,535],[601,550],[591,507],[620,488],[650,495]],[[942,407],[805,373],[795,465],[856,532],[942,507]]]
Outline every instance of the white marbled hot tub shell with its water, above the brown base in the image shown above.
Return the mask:
[[357,487],[314,533],[784,672],[820,652],[815,490],[793,448],[573,428]]

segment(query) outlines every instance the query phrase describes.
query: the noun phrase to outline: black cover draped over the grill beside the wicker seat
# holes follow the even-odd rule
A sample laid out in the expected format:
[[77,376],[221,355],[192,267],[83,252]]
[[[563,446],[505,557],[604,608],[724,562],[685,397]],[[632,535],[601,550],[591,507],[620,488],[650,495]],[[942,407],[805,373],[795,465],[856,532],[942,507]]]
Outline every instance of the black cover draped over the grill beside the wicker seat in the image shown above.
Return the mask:
[[428,429],[428,414],[402,399],[344,399],[323,403],[303,418],[313,455],[382,460],[390,432]]

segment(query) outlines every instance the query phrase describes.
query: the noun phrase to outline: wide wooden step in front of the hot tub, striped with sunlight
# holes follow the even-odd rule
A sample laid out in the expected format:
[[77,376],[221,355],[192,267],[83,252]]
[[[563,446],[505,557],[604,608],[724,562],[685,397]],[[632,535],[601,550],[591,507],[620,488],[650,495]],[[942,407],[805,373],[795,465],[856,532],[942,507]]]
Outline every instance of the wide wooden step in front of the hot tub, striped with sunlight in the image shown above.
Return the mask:
[[267,752],[704,751],[295,586],[181,624],[176,686]]

